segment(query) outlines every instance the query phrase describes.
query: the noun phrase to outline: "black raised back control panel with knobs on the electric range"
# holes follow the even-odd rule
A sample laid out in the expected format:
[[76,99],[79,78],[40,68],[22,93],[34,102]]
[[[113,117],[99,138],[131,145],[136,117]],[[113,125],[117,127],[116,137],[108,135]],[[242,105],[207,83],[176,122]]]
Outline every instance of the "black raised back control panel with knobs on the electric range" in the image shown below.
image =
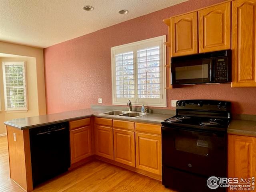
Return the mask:
[[231,103],[218,100],[179,100],[176,109],[229,111]]

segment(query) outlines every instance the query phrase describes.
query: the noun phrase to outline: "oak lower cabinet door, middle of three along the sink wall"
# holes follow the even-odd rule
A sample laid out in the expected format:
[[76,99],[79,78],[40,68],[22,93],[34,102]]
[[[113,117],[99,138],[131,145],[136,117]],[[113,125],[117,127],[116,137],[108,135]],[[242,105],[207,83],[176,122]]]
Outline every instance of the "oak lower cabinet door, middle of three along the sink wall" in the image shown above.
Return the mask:
[[114,129],[114,160],[135,167],[134,131]]

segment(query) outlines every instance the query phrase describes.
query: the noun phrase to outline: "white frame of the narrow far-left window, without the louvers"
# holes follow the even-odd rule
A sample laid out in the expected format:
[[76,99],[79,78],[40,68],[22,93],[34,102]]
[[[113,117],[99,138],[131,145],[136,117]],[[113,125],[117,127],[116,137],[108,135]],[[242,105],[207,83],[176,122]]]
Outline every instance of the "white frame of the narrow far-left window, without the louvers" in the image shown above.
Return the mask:
[[[24,99],[26,106],[25,107],[17,107],[17,108],[8,108],[7,105],[7,91],[6,91],[6,74],[5,74],[5,66],[11,65],[20,65],[23,67],[23,79],[24,79]],[[26,84],[26,64],[24,61],[3,61],[2,62],[2,71],[3,71],[3,82],[4,82],[4,104],[6,112],[27,112],[28,111],[28,94],[27,94],[27,84]]]

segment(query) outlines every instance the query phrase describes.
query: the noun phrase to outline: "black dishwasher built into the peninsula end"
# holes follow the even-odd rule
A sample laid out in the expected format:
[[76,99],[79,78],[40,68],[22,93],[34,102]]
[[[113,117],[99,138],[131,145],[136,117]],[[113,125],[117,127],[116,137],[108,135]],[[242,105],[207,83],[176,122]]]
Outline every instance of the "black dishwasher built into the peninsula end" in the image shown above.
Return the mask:
[[40,126],[29,130],[33,186],[70,167],[68,122]]

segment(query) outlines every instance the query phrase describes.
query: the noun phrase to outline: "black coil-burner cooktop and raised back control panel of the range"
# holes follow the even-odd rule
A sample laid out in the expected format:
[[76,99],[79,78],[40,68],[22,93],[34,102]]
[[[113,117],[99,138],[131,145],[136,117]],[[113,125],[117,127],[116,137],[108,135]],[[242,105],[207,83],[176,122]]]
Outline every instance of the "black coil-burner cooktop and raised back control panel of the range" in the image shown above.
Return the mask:
[[176,116],[162,122],[165,127],[226,131],[230,123],[227,101],[180,100],[176,103]]

